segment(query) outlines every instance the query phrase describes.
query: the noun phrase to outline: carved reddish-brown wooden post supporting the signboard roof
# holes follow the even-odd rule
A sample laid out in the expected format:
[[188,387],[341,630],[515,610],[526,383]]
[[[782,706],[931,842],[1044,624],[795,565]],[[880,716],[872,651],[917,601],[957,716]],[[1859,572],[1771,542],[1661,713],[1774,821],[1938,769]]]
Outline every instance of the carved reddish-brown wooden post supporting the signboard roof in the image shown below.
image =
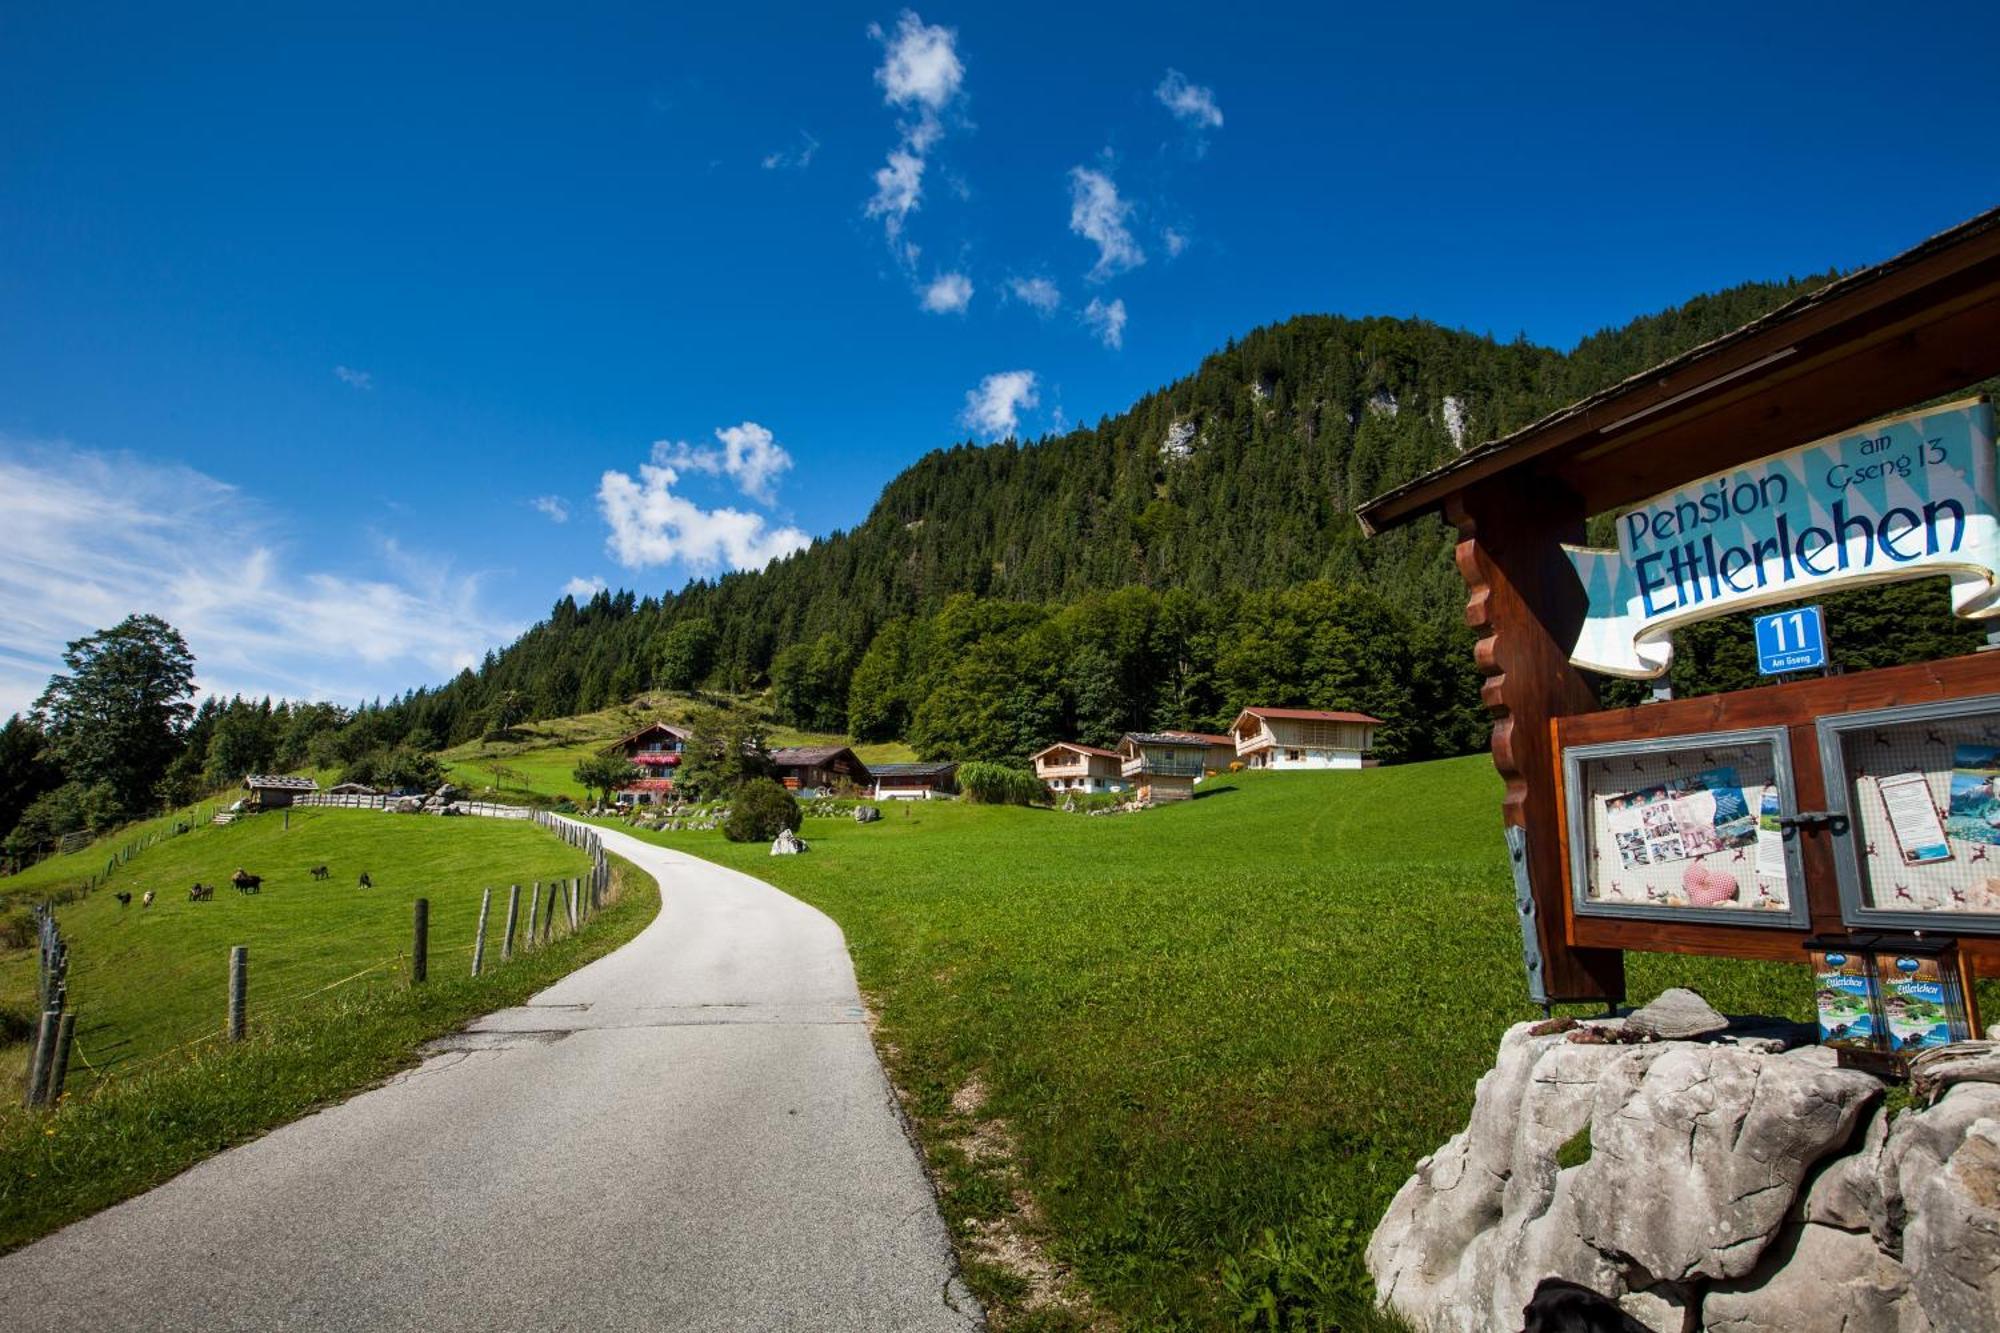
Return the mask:
[[1492,484],[1446,500],[1458,528],[1466,622],[1480,636],[1474,660],[1494,715],[1494,767],[1506,783],[1502,819],[1524,835],[1532,913],[1524,911],[1528,993],[1542,1005],[1624,999],[1624,953],[1572,949],[1564,933],[1562,827],[1550,723],[1598,707],[1596,689],[1570,650],[1586,596],[1562,542],[1582,544],[1586,508],[1554,480]]

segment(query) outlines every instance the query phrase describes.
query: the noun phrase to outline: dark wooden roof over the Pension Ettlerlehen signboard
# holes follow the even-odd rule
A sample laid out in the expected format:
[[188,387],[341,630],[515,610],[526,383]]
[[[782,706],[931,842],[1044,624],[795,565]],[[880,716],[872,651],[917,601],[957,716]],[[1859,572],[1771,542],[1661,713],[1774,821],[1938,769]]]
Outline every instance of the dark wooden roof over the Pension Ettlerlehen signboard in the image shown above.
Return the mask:
[[[1362,530],[1402,526],[1522,470],[1516,484],[1564,484],[1586,512],[1604,512],[1846,430],[1868,402],[1958,392],[2000,368],[1996,260],[2000,208],[1464,450],[1362,504]],[[1630,466],[1610,466],[1614,454]]]

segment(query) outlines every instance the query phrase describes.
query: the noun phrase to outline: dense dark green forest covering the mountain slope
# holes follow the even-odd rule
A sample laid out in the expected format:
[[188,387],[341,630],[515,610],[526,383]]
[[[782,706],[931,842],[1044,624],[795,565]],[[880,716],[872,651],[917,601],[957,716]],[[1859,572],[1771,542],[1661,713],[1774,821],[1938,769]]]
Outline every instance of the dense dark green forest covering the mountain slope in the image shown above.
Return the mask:
[[[0,733],[0,831],[20,821],[24,851],[260,769],[420,785],[440,747],[648,689],[768,691],[786,723],[906,739],[924,757],[1018,763],[1058,739],[1216,731],[1252,703],[1372,713],[1386,761],[1462,755],[1486,743],[1488,719],[1452,534],[1430,520],[1364,540],[1354,508],[1830,276],[1700,296],[1568,354],[1402,318],[1258,328],[1096,426],[930,452],[860,526],[764,570],[564,596],[478,671],[358,713],[146,705],[136,751],[156,763],[140,775],[72,755],[102,729],[44,699]],[[1984,636],[1950,616],[1936,578],[1826,606],[1848,669],[1966,652]],[[124,660],[138,642],[148,671],[192,679],[170,626],[132,624],[72,656]],[[1742,616],[1678,636],[1676,691],[1754,681]],[[1606,683],[1604,695],[1644,691]]]

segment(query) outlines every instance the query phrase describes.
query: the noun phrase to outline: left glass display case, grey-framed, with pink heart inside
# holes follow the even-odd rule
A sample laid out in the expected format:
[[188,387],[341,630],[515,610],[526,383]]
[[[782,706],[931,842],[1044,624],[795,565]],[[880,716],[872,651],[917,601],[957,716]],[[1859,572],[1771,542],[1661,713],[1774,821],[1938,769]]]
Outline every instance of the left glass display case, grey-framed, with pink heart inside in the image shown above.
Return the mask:
[[1572,745],[1562,779],[1576,915],[1806,925],[1784,727]]

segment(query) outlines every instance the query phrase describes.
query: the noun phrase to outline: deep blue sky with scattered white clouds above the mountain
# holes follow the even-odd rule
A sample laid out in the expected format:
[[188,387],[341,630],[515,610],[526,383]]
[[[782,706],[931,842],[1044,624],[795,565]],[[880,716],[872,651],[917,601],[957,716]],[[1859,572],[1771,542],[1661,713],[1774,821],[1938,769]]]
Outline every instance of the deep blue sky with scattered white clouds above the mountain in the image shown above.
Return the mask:
[[1568,346],[2000,202],[1992,6],[702,8],[0,8],[0,713],[128,610],[394,693],[1258,324]]

